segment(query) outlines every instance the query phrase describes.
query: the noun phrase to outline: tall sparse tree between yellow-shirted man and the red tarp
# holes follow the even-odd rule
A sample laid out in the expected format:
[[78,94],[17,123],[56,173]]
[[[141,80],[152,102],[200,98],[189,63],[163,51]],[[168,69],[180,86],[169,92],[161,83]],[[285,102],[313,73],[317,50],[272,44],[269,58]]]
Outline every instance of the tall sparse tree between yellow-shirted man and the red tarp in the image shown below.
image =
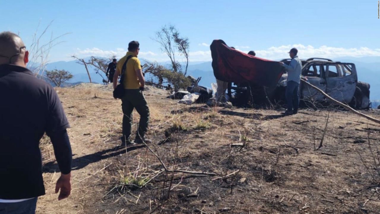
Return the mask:
[[[182,76],[185,77],[187,74],[188,67],[188,59],[189,59],[189,42],[188,38],[180,37],[180,34],[176,27],[163,26],[161,29],[156,32],[156,38],[154,39],[161,45],[161,50],[166,53],[171,61],[171,71],[174,73],[174,76],[177,78],[176,81],[173,82],[174,90],[179,90],[179,85],[181,83]],[[185,70],[182,70],[182,66],[179,61],[176,60],[177,53],[179,55],[183,55],[186,60]]]

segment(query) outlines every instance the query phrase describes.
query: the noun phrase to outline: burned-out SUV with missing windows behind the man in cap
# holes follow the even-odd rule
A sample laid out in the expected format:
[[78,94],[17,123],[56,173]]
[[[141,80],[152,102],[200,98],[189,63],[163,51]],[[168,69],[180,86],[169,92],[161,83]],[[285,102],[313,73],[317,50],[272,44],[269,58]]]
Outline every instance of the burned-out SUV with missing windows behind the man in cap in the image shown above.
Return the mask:
[[[289,64],[291,59],[283,59]],[[334,62],[331,59],[310,58],[302,60],[302,76],[309,83],[317,86],[337,101],[349,104],[355,109],[368,109],[369,84],[358,81],[356,67],[353,63]],[[284,91],[287,84],[287,74],[284,73],[278,82],[277,91]],[[306,102],[323,101],[325,96],[301,81],[300,98]]]

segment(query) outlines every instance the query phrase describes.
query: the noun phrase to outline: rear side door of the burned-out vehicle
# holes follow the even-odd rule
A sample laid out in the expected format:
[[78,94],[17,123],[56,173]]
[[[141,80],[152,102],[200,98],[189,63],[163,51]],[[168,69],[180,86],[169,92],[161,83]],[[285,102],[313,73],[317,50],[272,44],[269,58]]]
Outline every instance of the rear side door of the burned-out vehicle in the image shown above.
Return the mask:
[[349,103],[354,96],[358,76],[355,64],[328,63],[326,67],[326,93],[339,102]]

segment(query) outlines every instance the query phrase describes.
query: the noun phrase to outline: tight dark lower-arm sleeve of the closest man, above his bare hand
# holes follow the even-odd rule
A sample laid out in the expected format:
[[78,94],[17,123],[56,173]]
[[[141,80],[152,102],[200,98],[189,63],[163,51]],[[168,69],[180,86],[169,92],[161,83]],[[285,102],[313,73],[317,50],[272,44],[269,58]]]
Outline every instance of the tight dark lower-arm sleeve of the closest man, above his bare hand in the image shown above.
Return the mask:
[[54,155],[57,159],[59,170],[62,174],[69,174],[71,172],[73,154],[66,129],[53,133],[50,139],[53,144]]

